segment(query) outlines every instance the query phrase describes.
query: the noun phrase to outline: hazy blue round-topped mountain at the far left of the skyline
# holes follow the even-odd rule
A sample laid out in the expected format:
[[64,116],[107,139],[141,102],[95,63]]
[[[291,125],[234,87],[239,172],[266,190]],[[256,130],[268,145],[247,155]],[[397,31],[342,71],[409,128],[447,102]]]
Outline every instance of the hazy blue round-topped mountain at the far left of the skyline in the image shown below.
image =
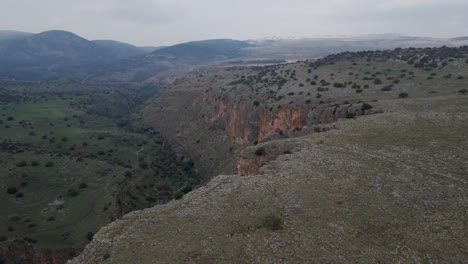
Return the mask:
[[156,49],[112,40],[90,41],[60,30],[38,34],[0,31],[0,78],[55,78]]

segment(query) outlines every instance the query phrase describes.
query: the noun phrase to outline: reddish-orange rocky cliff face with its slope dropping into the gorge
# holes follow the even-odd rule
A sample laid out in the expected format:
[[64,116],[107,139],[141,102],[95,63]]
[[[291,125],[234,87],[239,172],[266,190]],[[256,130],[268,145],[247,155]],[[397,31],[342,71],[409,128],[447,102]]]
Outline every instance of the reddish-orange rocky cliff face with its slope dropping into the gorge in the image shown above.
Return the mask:
[[[338,119],[379,112],[374,103],[341,103],[312,96],[305,96],[310,98],[307,100],[304,96],[278,100],[282,97],[274,99],[271,92],[261,90],[252,96],[255,88],[233,86],[228,82],[233,79],[229,74],[232,73],[214,71],[211,75],[194,74],[177,80],[135,115],[137,122],[174,140],[174,145],[193,157],[202,175],[209,174],[208,177],[246,167],[247,158],[239,161],[244,165],[233,160],[248,145],[300,136],[314,129],[327,130],[324,125]],[[306,132],[298,133],[302,130]],[[257,160],[251,165],[256,163]]]

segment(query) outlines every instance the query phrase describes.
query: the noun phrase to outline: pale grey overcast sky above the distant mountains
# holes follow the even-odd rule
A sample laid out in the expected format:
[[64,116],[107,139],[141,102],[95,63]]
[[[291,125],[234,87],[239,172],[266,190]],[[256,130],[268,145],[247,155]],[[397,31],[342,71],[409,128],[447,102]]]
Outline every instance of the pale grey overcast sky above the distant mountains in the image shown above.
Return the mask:
[[0,30],[168,45],[211,38],[468,35],[468,0],[0,0]]

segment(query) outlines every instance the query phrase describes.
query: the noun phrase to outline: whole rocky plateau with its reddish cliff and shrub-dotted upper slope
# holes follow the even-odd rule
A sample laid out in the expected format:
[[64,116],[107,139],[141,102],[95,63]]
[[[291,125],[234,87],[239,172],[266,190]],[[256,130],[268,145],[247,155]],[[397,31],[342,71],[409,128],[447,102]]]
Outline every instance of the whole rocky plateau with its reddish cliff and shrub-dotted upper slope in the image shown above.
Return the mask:
[[69,263],[463,262],[467,54],[343,53],[175,81],[133,123],[224,175],[109,224]]

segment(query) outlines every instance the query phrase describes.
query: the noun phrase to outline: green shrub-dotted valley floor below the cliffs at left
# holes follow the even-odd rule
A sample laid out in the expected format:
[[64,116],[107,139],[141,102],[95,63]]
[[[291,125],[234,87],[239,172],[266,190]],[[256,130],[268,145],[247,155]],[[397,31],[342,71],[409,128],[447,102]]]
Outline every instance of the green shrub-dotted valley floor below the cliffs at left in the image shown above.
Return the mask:
[[2,83],[0,260],[71,257],[104,224],[201,182],[159,133],[126,122],[148,89]]

